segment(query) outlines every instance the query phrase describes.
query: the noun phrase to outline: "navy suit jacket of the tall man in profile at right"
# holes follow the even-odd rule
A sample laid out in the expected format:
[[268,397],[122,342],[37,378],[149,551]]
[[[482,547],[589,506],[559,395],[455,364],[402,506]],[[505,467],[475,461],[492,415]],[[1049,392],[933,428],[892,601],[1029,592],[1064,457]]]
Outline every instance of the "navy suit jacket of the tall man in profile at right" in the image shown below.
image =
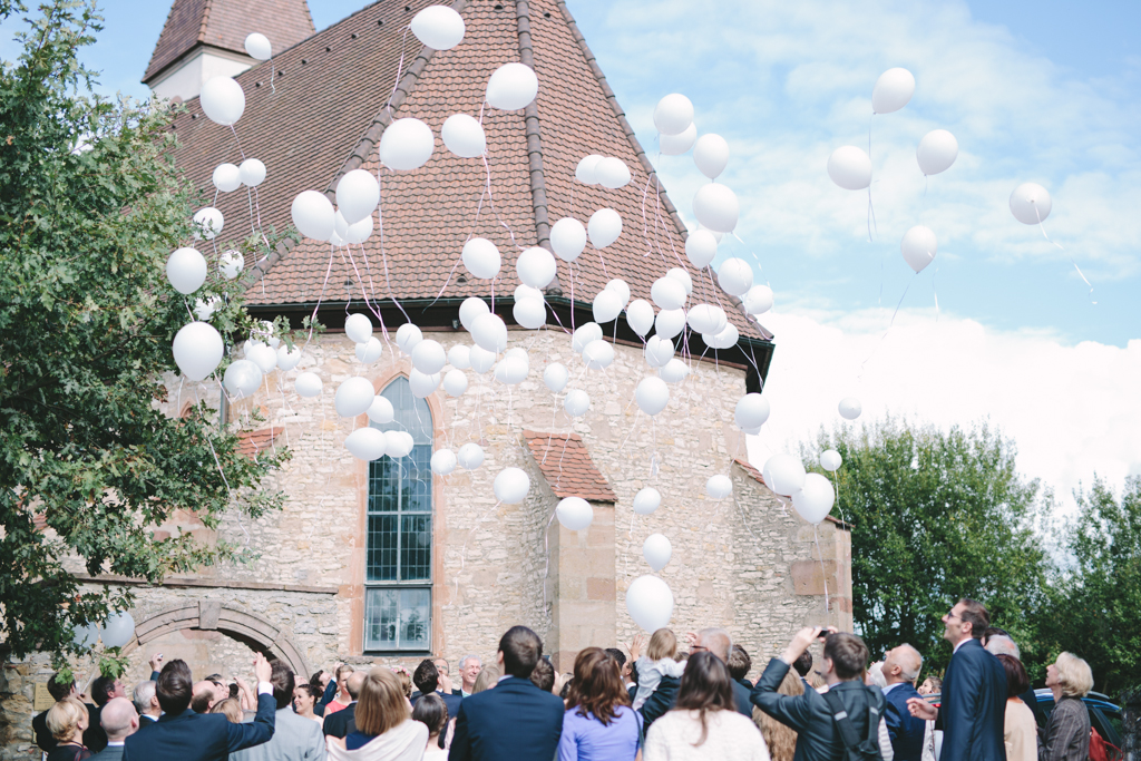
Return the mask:
[[950,656],[942,678],[940,761],[1006,761],[1006,670],[977,639]]

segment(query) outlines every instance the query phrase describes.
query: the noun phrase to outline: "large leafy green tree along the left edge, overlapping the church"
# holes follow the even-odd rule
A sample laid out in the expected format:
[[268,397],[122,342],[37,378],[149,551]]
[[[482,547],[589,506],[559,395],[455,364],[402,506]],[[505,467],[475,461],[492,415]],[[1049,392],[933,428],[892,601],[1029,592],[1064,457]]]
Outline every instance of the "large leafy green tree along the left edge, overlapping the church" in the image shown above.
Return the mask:
[[[24,11],[0,0],[0,16]],[[204,403],[183,420],[159,411],[193,307],[164,274],[192,244],[196,200],[169,159],[171,112],[88,95],[94,5],[55,0],[25,21],[0,72],[0,640],[62,662],[74,626],[131,602],[68,567],[159,582],[238,557],[155,528],[176,509],[212,528],[278,507],[258,486],[288,453],[241,455]],[[226,337],[254,327],[242,288],[215,275],[195,293],[224,301],[211,322]]]

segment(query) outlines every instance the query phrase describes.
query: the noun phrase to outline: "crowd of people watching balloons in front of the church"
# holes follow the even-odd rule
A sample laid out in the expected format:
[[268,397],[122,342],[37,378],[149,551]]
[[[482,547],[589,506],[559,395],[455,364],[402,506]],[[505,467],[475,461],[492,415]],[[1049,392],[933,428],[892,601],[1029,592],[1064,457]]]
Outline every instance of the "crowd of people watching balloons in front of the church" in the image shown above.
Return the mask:
[[589,647],[559,674],[539,635],[512,626],[494,664],[460,661],[459,687],[444,658],[411,673],[337,664],[299,682],[259,654],[251,683],[227,683],[156,655],[130,695],[96,679],[94,704],[52,679],[57,703],[33,727],[47,761],[1087,761],[1084,661],[1062,653],[1047,667],[1046,718],[982,605],[960,600],[942,622],[950,663],[922,682],[914,647],[869,665],[864,641],[834,629],[798,632],[753,683],[723,629],[683,640],[662,629],[629,657]]

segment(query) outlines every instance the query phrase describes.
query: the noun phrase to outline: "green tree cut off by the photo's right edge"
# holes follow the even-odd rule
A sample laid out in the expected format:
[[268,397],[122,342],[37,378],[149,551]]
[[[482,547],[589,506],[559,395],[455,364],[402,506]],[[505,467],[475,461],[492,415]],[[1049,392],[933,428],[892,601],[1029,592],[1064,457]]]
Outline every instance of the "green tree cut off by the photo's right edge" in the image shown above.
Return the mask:
[[1076,497],[1060,532],[1069,557],[1042,610],[1045,655],[1085,658],[1098,690],[1116,696],[1141,686],[1141,478],[1125,480],[1120,500],[1100,479]]

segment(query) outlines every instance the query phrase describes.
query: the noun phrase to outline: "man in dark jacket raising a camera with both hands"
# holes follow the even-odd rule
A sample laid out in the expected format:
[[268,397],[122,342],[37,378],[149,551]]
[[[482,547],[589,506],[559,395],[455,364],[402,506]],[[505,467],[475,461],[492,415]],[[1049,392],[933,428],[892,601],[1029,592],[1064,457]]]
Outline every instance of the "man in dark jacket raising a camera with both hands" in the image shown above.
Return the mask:
[[[807,688],[803,695],[782,695],[777,691],[791,665],[820,637],[822,631],[819,626],[802,629],[785,648],[784,655],[769,661],[753,688],[752,699],[756,707],[796,730],[795,761],[845,758],[833,711],[823,695],[811,688]],[[865,687],[863,681],[867,646],[855,634],[830,633],[824,641],[822,665],[828,693],[840,697],[856,736],[863,743],[868,737],[869,722],[877,727],[883,714],[883,694],[877,687]]]

